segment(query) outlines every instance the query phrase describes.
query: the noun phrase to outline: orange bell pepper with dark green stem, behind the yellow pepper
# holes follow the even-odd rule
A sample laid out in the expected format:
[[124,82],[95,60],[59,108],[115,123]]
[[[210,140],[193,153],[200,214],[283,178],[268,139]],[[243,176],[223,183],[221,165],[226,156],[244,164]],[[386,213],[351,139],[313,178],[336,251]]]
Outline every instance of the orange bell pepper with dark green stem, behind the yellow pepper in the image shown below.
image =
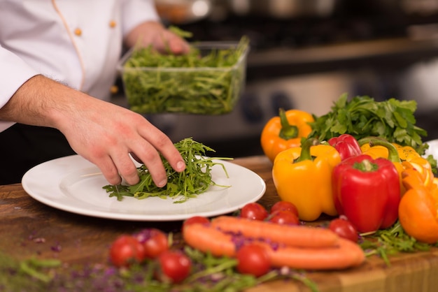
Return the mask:
[[274,162],[278,153],[292,147],[301,146],[301,139],[306,138],[312,129],[309,125],[313,116],[302,110],[278,110],[278,116],[269,119],[264,125],[260,143],[264,154]]

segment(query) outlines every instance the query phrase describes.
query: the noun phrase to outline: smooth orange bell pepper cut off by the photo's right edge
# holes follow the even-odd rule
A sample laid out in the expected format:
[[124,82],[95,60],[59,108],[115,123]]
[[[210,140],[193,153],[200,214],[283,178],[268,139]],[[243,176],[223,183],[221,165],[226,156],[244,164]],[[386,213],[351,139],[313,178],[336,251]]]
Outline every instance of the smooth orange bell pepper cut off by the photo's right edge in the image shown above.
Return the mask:
[[399,205],[399,220],[404,231],[419,242],[434,244],[438,241],[438,187],[428,188],[415,168],[403,172],[407,189]]

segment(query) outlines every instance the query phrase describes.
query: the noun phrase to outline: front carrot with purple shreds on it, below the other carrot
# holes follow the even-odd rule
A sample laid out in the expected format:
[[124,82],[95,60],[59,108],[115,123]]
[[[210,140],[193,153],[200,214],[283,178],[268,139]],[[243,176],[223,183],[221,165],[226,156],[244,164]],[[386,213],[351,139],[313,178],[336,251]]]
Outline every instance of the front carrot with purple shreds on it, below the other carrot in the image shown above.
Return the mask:
[[308,270],[339,270],[360,265],[365,261],[365,254],[358,244],[343,238],[339,238],[335,246],[296,247],[264,241],[262,238],[232,235],[220,231],[213,224],[190,224],[183,229],[183,238],[191,247],[211,252],[214,256],[234,257],[242,244],[260,244],[267,251],[271,265],[278,268],[287,266]]

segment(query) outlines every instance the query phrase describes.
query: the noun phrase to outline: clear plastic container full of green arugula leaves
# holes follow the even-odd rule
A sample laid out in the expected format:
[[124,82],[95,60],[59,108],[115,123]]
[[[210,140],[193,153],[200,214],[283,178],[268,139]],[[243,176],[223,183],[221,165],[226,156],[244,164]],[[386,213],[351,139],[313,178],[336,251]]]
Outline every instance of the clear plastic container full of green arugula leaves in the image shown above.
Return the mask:
[[192,45],[180,55],[136,49],[122,71],[127,101],[140,113],[231,112],[243,88],[248,46],[243,36],[237,45],[208,50]]

